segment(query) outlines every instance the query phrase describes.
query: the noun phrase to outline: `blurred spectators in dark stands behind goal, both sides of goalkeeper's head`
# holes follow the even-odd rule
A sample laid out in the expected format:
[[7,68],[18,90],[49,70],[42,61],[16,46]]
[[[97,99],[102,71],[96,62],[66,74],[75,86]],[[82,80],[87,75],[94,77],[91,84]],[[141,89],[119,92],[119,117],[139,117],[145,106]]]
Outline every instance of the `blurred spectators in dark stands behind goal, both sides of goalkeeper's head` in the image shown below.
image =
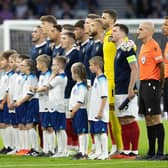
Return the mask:
[[[38,19],[47,14],[58,19],[81,19],[88,13],[101,12],[103,3],[105,1],[101,0],[0,0],[0,23],[5,19]],[[162,18],[166,15],[167,0],[126,1],[125,18]]]

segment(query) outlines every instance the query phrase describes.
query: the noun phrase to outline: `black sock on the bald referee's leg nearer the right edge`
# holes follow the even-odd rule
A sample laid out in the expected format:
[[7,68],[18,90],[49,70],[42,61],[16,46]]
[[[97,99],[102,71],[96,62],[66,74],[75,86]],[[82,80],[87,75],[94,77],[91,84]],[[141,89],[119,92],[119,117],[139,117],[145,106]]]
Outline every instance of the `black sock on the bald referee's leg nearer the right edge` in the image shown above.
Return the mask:
[[165,131],[162,123],[155,125],[155,132],[158,140],[157,155],[163,155]]

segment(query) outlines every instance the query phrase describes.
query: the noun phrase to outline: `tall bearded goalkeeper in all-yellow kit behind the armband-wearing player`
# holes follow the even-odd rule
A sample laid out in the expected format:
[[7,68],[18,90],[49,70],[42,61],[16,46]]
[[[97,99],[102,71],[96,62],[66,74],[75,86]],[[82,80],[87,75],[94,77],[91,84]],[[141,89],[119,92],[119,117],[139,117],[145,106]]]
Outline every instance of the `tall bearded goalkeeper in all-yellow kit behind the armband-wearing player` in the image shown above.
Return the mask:
[[105,10],[102,13],[103,26],[105,29],[103,55],[104,55],[104,73],[108,80],[108,98],[109,98],[109,132],[112,141],[110,155],[116,151],[122,150],[121,126],[114,112],[114,57],[116,46],[112,42],[112,27],[117,19],[117,14],[113,10]]

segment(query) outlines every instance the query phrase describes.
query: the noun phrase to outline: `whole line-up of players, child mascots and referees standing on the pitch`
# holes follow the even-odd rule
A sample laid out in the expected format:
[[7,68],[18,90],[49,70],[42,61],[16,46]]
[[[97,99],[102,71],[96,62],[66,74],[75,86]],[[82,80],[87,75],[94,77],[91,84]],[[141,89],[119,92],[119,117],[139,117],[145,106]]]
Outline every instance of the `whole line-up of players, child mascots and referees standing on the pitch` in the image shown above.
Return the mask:
[[[1,154],[168,159],[160,108],[164,89],[168,112],[168,45],[163,58],[153,39],[154,24],[143,22],[137,30],[142,46],[136,56],[128,27],[116,20],[113,10],[88,14],[74,25],[59,25],[55,16],[43,15],[32,32],[29,56],[12,49],[1,53]],[[167,37],[168,17],[162,31]],[[147,128],[145,157],[139,156],[138,112]]]

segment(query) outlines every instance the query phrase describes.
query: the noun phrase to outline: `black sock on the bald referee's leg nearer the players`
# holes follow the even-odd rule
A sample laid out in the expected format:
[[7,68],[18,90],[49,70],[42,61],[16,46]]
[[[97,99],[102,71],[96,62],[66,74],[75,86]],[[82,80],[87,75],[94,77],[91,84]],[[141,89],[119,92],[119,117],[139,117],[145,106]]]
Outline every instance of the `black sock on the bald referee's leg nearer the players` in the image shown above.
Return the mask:
[[155,126],[147,126],[147,135],[148,135],[148,155],[155,155],[155,144],[156,144],[156,133]]

